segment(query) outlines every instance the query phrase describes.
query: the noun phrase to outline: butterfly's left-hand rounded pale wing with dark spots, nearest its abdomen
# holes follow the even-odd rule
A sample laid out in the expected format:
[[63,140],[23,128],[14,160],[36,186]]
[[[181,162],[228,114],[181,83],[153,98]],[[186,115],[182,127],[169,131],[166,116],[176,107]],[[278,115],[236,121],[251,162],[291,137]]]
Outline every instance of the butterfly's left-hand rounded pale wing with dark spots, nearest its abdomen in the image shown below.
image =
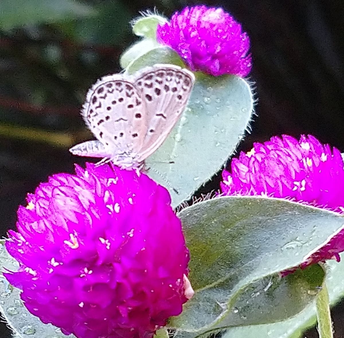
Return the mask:
[[140,94],[122,74],[101,78],[83,107],[86,124],[113,156],[142,147],[144,115]]

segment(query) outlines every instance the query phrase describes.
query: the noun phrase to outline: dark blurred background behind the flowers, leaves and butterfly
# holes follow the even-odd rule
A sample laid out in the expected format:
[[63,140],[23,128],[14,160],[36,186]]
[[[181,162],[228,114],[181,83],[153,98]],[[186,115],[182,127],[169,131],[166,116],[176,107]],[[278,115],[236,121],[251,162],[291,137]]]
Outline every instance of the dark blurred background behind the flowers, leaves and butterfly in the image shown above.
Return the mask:
[[[68,147],[90,138],[79,116],[96,78],[120,71],[136,37],[128,22],[157,7],[166,16],[198,1],[17,0],[0,2],[0,235],[40,181],[72,172]],[[204,2],[203,2],[204,3]],[[312,134],[344,150],[342,1],[206,1],[243,23],[251,39],[257,117],[239,146],[273,135]],[[214,184],[215,186],[215,184]],[[216,188],[216,186],[215,186]],[[333,309],[344,337],[344,303]],[[0,324],[0,336],[7,329]],[[316,330],[305,337],[317,337]],[[278,338],[278,337],[276,337]]]

